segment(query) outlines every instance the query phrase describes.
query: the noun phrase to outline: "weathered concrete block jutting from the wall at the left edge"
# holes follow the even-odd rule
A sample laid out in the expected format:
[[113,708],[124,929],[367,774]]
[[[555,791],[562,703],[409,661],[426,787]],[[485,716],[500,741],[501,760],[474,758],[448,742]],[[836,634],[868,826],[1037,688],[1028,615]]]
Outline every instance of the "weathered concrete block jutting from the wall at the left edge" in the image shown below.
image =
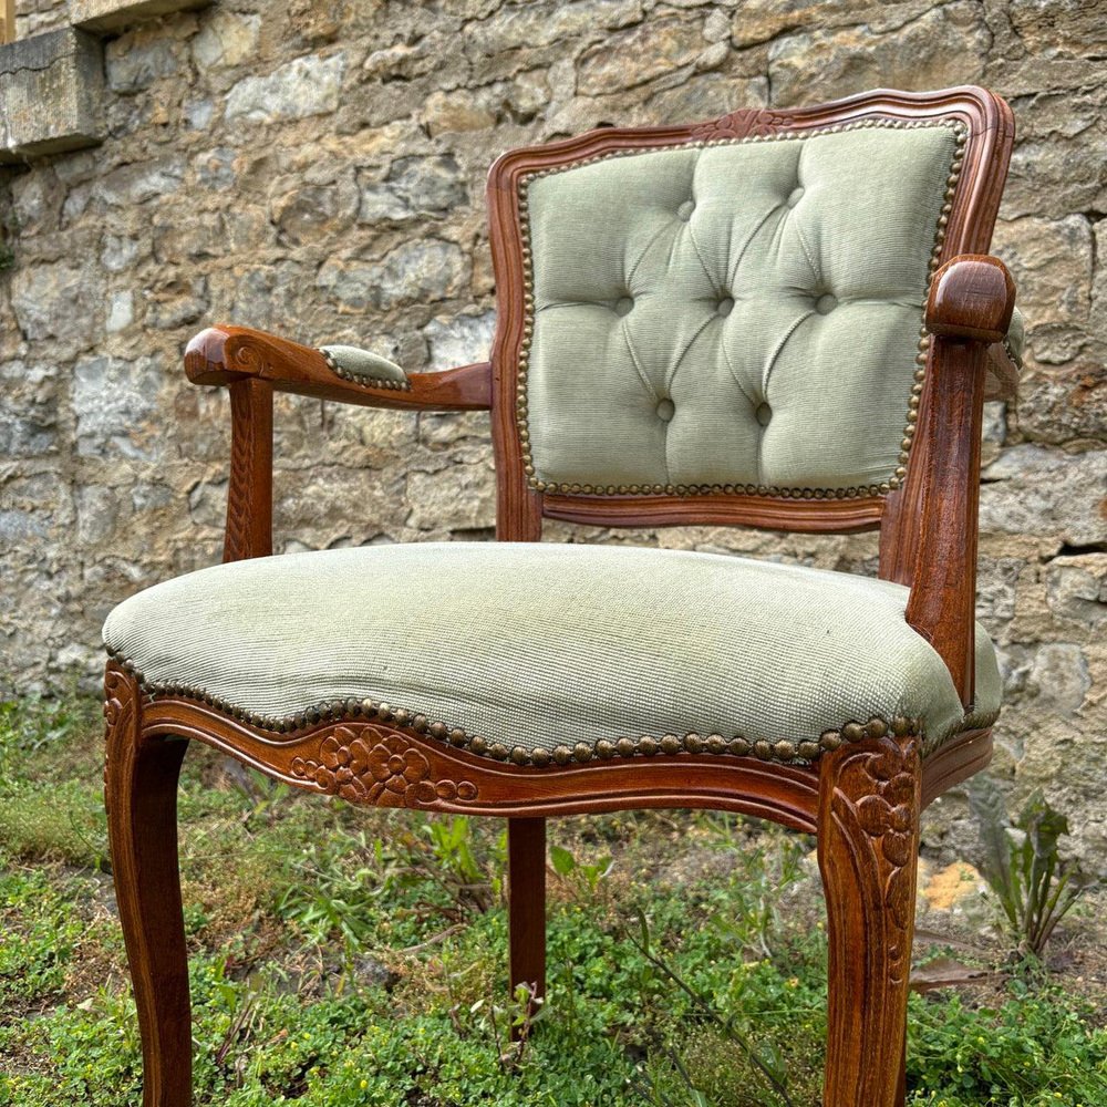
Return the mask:
[[0,162],[99,144],[103,92],[91,34],[65,28],[0,46]]

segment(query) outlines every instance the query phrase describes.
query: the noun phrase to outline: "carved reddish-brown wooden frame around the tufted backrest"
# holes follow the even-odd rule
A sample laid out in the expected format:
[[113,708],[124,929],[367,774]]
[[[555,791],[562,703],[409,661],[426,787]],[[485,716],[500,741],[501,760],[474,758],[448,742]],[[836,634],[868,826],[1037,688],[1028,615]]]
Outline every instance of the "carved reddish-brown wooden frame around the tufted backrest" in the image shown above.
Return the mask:
[[[876,91],[817,107],[743,108],[706,123],[669,127],[606,127],[563,142],[503,155],[488,176],[488,211],[496,272],[497,331],[493,346],[493,441],[496,448],[497,535],[535,541],[542,518],[597,526],[658,527],[739,524],[774,530],[851,532],[890,523],[882,542],[882,575],[907,582],[912,557],[911,520],[918,516],[923,459],[912,457],[906,483],[876,496],[849,499],[795,498],[720,492],[680,495],[567,494],[531,486],[516,417],[519,365],[529,338],[527,266],[520,195],[530,174],[563,167],[613,151],[677,147],[713,139],[825,131],[862,120],[956,120],[968,128],[964,162],[932,272],[961,254],[981,254],[992,236],[1014,137],[1011,111],[976,87],[938,93]],[[930,374],[928,373],[928,380]],[[922,394],[925,408],[928,389]]]

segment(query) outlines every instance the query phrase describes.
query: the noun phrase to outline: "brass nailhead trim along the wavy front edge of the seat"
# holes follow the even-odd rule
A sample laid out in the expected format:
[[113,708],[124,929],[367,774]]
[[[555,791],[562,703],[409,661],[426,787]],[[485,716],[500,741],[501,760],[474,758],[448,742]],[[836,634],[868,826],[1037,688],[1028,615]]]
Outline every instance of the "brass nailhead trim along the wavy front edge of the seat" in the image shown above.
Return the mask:
[[[344,723],[353,721],[380,721],[391,730],[407,731],[422,737],[432,737],[451,745],[456,749],[466,749],[478,757],[490,757],[493,761],[510,762],[519,767],[547,768],[550,765],[583,765],[591,761],[611,761],[615,757],[655,757],[672,754],[711,754],[715,756],[731,755],[736,757],[756,757],[758,761],[778,762],[782,764],[805,764],[817,761],[824,753],[830,753],[842,745],[863,742],[866,738],[882,738],[887,734],[896,737],[917,735],[923,737],[921,718],[896,716],[886,718],[872,715],[868,722],[851,720],[838,730],[824,731],[817,738],[803,742],[766,742],[749,741],[741,734],[725,737],[722,734],[701,735],[694,731],[687,734],[665,734],[658,738],[650,734],[639,737],[621,737],[614,741],[600,738],[594,743],[578,742],[573,746],[557,745],[552,748],[536,746],[508,747],[501,742],[489,742],[477,734],[469,734],[459,726],[451,726],[441,721],[431,721],[425,714],[397,707],[394,704],[377,700],[349,697],[344,700],[323,700],[283,717],[265,715],[246,711],[226,700],[210,695],[203,689],[182,684],[156,684],[147,681],[135,668],[134,663],[121,654],[108,650],[108,656],[125,669],[136,681],[143,695],[149,700],[161,697],[195,700],[197,703],[213,707],[224,715],[259,731],[268,731],[275,735],[297,736],[320,723]],[[930,751],[928,751],[930,752]],[[325,759],[324,759],[325,761]],[[344,764],[344,762],[343,762]],[[338,766],[323,765],[323,768],[337,770]],[[304,762],[302,773],[306,778],[320,770],[320,765]],[[421,778],[420,778],[421,779]],[[349,782],[346,782],[349,783]],[[417,780],[408,779],[408,784]],[[393,782],[393,785],[399,780]],[[351,785],[354,787],[354,785]],[[465,797],[463,797],[465,798]]]

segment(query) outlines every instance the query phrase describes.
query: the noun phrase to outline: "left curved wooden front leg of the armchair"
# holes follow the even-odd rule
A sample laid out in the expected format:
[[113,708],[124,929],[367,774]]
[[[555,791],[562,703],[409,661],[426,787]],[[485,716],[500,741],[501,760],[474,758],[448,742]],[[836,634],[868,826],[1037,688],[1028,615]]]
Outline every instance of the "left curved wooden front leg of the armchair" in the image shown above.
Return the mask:
[[177,778],[186,741],[142,738],[137,682],[104,677],[107,830],[143,1051],[143,1107],[192,1103],[188,962],[177,870]]

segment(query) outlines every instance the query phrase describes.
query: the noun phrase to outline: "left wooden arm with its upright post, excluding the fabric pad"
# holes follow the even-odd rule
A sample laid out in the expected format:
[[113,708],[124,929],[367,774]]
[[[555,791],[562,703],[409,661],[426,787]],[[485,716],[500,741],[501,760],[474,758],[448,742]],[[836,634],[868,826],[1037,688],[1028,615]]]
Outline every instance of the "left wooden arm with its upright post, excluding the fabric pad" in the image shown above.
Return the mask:
[[492,407],[492,365],[411,373],[407,387],[381,387],[339,376],[318,350],[247,327],[211,327],[185,350],[194,384],[230,389],[230,480],[224,561],[272,552],[273,390],[319,400],[408,411]]

